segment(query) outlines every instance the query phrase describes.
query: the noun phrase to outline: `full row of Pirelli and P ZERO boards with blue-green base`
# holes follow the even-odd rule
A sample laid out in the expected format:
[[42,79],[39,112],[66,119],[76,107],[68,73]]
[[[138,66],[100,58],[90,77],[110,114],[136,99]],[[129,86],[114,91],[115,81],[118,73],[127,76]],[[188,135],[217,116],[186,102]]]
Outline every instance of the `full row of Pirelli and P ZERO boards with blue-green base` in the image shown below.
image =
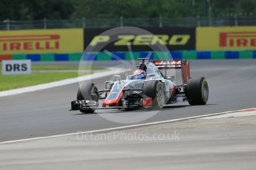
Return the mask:
[[0,31],[0,62],[110,61],[116,60],[114,56],[122,60],[166,56],[174,59],[256,58],[256,27],[165,27],[145,29],[149,33],[102,35],[106,30]]

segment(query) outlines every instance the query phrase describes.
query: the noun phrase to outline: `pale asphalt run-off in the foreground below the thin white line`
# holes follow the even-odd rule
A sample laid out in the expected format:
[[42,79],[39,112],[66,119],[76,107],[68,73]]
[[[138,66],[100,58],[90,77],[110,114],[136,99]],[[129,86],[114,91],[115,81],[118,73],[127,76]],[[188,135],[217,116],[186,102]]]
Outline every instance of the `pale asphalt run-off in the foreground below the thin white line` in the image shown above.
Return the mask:
[[255,170],[255,127],[254,115],[9,143],[0,169]]

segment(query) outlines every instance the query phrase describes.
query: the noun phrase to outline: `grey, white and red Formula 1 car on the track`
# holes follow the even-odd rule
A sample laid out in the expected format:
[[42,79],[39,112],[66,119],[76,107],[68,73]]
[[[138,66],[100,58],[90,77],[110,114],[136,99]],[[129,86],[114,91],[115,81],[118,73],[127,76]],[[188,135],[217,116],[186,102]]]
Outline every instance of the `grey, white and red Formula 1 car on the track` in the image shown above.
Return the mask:
[[[207,103],[209,87],[206,78],[190,78],[188,61],[139,60],[138,67],[146,72],[145,78],[135,79],[134,75],[128,75],[122,80],[121,75],[115,75],[114,81],[105,81],[105,89],[101,90],[93,83],[83,83],[79,86],[77,101],[71,102],[70,110],[93,113],[96,109],[162,109],[182,101],[188,101],[190,105]],[[174,84],[173,76],[166,73],[168,69],[181,69],[183,83]]]

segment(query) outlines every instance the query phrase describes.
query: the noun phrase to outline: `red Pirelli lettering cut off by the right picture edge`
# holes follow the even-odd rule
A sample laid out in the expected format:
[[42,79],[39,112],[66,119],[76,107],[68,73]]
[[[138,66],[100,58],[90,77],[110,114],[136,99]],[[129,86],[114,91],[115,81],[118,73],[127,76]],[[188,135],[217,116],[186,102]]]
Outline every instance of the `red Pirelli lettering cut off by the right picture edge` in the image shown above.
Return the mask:
[[220,33],[220,47],[256,47],[255,32]]

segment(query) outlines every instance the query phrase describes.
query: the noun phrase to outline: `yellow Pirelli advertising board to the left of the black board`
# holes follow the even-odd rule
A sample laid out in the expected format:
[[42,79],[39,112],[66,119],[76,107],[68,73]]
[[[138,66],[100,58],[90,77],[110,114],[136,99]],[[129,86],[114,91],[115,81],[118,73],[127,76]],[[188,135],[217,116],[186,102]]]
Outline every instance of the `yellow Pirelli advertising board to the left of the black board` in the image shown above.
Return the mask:
[[82,52],[83,39],[82,29],[0,31],[0,54]]

